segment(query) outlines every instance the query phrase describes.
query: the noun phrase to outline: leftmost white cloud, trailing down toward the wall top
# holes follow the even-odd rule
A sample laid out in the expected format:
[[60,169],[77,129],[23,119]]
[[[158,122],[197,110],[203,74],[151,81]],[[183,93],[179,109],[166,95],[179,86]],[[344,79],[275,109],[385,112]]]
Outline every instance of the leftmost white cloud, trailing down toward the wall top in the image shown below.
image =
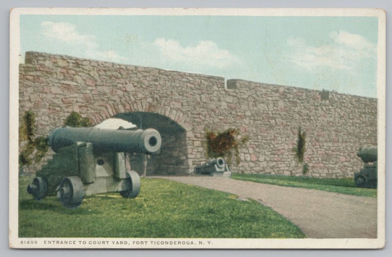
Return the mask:
[[41,23],[41,29],[43,35],[51,40],[56,40],[59,43],[65,43],[74,47],[85,48],[86,57],[112,62],[127,61],[126,57],[119,55],[116,51],[99,50],[95,36],[80,34],[76,26],[71,23],[43,21]]

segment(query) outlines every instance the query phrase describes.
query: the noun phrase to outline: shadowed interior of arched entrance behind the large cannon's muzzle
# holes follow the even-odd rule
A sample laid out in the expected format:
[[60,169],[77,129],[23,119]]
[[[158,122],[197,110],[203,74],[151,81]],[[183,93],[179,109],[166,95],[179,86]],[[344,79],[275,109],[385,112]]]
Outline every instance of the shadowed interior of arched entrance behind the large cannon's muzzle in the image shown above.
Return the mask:
[[[129,154],[132,170],[139,175],[179,175],[189,170],[186,130],[178,123],[154,112],[124,112],[114,115],[131,122],[137,128],[154,128],[162,137],[161,151],[149,156],[145,154]],[[147,162],[147,165],[144,165]],[[146,170],[145,168],[146,167]]]

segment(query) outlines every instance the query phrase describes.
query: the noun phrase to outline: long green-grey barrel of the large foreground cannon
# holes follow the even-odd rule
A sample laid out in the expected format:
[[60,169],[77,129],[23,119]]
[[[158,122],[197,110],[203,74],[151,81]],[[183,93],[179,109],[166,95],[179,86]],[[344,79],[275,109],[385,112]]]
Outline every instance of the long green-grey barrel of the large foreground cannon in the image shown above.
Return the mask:
[[102,152],[153,154],[161,147],[161,135],[153,128],[137,130],[100,128],[56,128],[49,135],[49,146],[59,148],[75,142],[92,142],[94,149]]

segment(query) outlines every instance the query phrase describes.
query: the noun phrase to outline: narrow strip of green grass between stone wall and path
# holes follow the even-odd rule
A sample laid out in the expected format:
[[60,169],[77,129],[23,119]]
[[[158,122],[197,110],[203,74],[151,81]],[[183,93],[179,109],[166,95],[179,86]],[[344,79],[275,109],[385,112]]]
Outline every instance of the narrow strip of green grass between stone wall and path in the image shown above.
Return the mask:
[[357,187],[354,179],[318,179],[309,177],[238,173],[232,174],[231,178],[235,180],[248,180],[273,185],[306,187],[348,195],[377,197],[377,189]]

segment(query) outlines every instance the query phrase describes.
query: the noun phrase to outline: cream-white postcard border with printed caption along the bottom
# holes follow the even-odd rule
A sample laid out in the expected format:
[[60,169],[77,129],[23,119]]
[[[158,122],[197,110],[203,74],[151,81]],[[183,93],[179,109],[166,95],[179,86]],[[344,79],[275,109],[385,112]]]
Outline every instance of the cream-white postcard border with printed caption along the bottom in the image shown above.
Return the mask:
[[[378,17],[377,47],[377,144],[378,144],[378,220],[376,239],[216,239],[216,238],[19,238],[18,237],[18,78],[20,24],[23,14],[37,15],[249,15],[249,16],[376,16]],[[385,144],[386,144],[386,14],[382,9],[363,8],[15,8],[10,15],[10,108],[9,108],[9,246],[11,248],[135,248],[135,249],[365,249],[382,248],[385,245]],[[37,241],[35,244],[23,242]],[[49,241],[63,241],[51,243]],[[68,241],[67,244],[64,242]],[[69,243],[75,241],[77,243]],[[81,241],[81,243],[78,243]],[[86,244],[83,242],[86,241]],[[92,243],[89,245],[88,241]],[[109,241],[102,245],[98,242]],[[128,244],[112,244],[128,242]],[[173,242],[172,244],[135,245],[133,241]],[[195,242],[195,244],[174,244],[174,242]],[[199,244],[203,242],[203,244]],[[208,241],[212,243],[208,243]],[[96,242],[94,244],[94,242]],[[132,245],[131,245],[132,243]],[[196,244],[197,243],[197,244]]]

